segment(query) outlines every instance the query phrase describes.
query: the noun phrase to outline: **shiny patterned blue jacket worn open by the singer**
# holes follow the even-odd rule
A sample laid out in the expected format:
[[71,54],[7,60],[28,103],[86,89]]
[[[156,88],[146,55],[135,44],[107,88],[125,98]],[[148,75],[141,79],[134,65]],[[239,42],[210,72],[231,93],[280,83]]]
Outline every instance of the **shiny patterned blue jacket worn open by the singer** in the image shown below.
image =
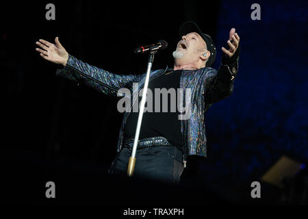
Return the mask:
[[[207,157],[207,137],[205,133],[205,112],[212,103],[227,98],[233,92],[233,83],[238,73],[239,58],[229,65],[221,64],[219,70],[205,67],[198,70],[183,70],[180,79],[180,88],[191,91],[191,115],[187,120],[181,120],[181,135],[183,142],[183,161],[188,155],[200,155]],[[161,70],[153,70],[150,81],[168,72],[168,67]],[[122,95],[132,97],[133,83],[138,83],[138,92],[144,86],[146,74],[142,75],[116,75],[101,68],[81,62],[76,57],[69,55],[64,68],[58,68],[56,75],[64,76],[73,81],[84,81],[104,94],[118,96],[120,88],[128,88],[131,92]],[[135,96],[137,96],[135,94]],[[133,103],[133,98],[131,98]],[[133,104],[131,104],[132,106]],[[118,137],[117,152],[123,146],[123,130],[130,112],[125,112]]]

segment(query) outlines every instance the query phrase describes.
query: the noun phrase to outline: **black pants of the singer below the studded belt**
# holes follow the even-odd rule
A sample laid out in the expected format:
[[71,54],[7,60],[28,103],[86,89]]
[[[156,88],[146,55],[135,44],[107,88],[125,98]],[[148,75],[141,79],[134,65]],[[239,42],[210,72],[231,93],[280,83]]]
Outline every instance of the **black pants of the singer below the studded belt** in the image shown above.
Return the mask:
[[[112,162],[109,174],[127,175],[129,157],[131,157],[131,149],[124,147]],[[137,149],[133,177],[179,183],[184,169],[182,157],[182,151],[176,146],[151,146]]]

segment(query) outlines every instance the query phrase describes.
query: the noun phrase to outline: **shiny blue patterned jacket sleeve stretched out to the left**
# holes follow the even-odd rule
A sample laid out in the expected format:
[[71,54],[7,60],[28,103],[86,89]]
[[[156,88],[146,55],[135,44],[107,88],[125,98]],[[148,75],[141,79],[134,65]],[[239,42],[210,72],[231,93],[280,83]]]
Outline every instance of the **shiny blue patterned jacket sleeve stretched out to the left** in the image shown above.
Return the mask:
[[117,96],[118,90],[125,88],[127,83],[140,80],[140,75],[116,75],[82,62],[73,55],[68,55],[66,66],[57,68],[56,75],[66,77],[72,81],[83,82],[99,90],[99,92],[111,96]]

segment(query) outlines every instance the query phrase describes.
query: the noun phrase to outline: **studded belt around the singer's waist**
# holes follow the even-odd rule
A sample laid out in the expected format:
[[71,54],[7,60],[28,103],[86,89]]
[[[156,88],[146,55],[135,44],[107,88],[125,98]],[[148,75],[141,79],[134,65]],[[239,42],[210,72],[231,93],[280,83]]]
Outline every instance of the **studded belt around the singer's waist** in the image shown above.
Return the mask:
[[[124,138],[124,146],[132,149],[133,138]],[[172,146],[164,137],[142,138],[138,140],[137,149],[147,148],[150,146]]]

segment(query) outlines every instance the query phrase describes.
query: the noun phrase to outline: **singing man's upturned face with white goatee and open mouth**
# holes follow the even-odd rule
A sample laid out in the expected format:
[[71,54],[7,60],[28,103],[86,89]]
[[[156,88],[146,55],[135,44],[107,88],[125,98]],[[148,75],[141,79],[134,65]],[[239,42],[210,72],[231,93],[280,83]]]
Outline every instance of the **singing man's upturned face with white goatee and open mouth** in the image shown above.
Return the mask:
[[173,53],[176,61],[198,62],[200,55],[206,51],[206,43],[201,36],[195,32],[182,36]]

